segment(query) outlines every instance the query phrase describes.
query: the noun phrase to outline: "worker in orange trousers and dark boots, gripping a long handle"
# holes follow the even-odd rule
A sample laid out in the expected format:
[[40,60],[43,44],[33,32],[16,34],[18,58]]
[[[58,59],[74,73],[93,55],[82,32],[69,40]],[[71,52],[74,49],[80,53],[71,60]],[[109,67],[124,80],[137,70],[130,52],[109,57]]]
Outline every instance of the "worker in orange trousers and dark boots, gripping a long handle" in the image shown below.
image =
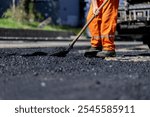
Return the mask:
[[[98,12],[98,7],[104,0],[91,0],[87,20],[93,14],[97,15],[89,24],[91,33],[91,48],[85,52],[85,56],[115,57],[115,31],[117,25],[117,14],[119,0],[108,0],[103,8]],[[98,14],[96,14],[98,12]]]

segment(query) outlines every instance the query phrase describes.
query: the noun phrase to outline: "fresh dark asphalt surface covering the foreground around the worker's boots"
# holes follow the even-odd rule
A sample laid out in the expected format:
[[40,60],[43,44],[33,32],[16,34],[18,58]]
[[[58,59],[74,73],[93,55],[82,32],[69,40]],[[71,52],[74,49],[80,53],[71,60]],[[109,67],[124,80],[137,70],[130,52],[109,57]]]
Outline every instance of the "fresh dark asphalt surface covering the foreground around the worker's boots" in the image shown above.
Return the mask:
[[150,99],[150,51],[118,45],[115,58],[86,58],[88,47],[66,57],[61,48],[1,48],[0,99],[146,100]]

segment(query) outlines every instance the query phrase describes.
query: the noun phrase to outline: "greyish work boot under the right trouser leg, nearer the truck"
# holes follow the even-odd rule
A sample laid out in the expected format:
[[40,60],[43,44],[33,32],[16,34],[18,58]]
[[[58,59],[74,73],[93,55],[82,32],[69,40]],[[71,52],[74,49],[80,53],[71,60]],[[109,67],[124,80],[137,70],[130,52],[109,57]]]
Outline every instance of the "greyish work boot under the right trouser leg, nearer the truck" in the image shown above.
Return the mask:
[[115,56],[116,56],[115,51],[106,51],[106,50],[103,50],[101,52],[97,52],[97,54],[96,54],[96,57],[99,57],[99,58],[115,57]]

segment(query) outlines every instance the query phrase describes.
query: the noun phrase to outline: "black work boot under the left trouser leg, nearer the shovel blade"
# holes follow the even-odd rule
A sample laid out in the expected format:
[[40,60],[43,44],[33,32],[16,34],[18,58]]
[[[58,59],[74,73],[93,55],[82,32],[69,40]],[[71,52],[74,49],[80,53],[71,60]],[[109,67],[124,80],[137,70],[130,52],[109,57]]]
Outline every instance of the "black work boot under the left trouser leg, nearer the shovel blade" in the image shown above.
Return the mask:
[[85,53],[84,53],[84,56],[85,57],[96,57],[96,54],[98,52],[102,51],[102,47],[91,47],[89,50],[87,50]]

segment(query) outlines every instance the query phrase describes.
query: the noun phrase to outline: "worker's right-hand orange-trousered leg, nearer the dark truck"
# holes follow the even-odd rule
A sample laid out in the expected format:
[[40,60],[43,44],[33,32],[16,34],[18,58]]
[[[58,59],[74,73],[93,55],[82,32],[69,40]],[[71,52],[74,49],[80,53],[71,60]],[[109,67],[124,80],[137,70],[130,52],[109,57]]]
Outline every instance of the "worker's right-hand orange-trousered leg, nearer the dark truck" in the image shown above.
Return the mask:
[[108,0],[102,9],[101,39],[103,50],[115,51],[115,31],[119,0]]

